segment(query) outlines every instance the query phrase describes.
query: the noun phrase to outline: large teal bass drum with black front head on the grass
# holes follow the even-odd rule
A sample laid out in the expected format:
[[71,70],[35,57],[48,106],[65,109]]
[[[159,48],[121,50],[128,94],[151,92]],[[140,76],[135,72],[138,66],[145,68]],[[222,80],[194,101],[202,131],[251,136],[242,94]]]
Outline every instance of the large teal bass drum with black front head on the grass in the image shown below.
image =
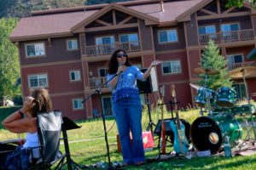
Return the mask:
[[225,134],[230,137],[230,146],[241,139],[242,129],[236,118],[229,113],[201,116],[195,119],[190,128],[192,144],[197,150],[211,150],[216,153],[224,142]]

